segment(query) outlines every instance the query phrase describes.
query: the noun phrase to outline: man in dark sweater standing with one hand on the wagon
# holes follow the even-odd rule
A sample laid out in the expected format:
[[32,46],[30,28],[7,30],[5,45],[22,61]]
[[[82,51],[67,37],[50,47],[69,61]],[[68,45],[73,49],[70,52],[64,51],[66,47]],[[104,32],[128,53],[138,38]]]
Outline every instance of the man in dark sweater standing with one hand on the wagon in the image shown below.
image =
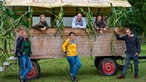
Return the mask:
[[138,78],[138,55],[140,54],[140,42],[134,34],[132,34],[130,29],[126,29],[126,36],[120,36],[117,34],[115,29],[115,34],[118,40],[124,40],[126,44],[126,58],[125,65],[122,74],[117,77],[118,79],[123,79],[125,77],[126,71],[129,68],[130,61],[134,61],[134,78]]

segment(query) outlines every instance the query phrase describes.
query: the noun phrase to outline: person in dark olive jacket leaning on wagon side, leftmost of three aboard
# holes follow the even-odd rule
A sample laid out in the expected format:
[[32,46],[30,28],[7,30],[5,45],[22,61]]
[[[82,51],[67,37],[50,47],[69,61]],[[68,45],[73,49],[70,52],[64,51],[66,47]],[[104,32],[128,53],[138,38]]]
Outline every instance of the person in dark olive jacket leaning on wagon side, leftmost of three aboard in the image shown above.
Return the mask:
[[40,15],[40,22],[38,24],[35,24],[32,26],[33,29],[39,30],[39,31],[44,31],[49,27],[49,25],[46,22],[46,17],[45,15]]

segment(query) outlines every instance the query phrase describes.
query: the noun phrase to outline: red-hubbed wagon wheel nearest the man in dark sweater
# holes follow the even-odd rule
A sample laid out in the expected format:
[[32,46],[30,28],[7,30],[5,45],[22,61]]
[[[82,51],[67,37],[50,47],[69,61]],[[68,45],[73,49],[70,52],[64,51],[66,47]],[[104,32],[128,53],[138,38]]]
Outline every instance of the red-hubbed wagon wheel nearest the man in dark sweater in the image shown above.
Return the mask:
[[115,60],[111,58],[105,58],[100,61],[98,70],[104,76],[112,76],[117,73],[118,65]]

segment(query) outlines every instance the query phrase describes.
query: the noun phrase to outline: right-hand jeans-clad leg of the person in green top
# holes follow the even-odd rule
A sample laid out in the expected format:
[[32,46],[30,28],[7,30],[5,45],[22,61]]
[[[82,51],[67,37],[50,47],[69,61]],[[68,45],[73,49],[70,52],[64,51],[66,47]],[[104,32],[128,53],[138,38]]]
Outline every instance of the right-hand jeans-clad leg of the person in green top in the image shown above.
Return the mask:
[[27,76],[27,74],[31,71],[31,69],[32,69],[32,63],[31,63],[31,60],[30,60],[30,58],[27,56],[27,55],[25,55],[25,58],[26,58],[26,66],[25,66],[25,71],[24,71],[24,73],[23,73],[23,77],[26,79],[26,76]]

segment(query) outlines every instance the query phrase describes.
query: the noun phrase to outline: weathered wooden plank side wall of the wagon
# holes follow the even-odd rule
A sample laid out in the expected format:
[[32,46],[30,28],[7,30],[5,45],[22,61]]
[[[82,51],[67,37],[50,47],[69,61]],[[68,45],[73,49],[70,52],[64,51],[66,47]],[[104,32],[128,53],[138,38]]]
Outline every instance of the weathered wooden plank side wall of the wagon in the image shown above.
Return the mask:
[[[45,32],[37,30],[31,30],[31,46],[32,46],[32,58],[44,59],[44,58],[62,58],[64,53],[62,51],[62,44],[68,38],[68,33],[73,31],[77,35],[76,43],[79,56],[90,56],[90,40],[87,34],[82,29],[65,28],[65,38],[61,38],[60,34],[54,36],[56,29],[48,29]],[[21,34],[17,31],[17,36]],[[122,31],[121,31],[122,32]],[[123,55],[125,51],[125,43],[115,38],[114,47],[115,53],[111,53],[111,41],[112,41],[112,29],[108,29],[107,32],[100,34],[96,37],[96,41],[93,41],[93,56],[117,56]]]

